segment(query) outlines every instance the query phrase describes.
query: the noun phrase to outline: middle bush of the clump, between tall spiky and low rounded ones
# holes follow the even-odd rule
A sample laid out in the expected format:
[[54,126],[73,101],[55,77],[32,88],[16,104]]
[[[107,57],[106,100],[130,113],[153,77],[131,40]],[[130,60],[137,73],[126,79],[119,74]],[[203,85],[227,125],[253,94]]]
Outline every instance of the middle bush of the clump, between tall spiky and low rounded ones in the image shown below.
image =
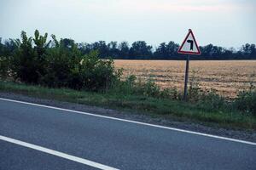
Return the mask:
[[41,77],[40,84],[52,88],[75,88],[81,87],[81,82],[75,80],[78,75],[74,70],[79,65],[82,55],[77,45],[70,40],[61,39],[57,41],[55,36],[51,36],[54,40],[54,47],[49,48],[46,53],[45,75]]

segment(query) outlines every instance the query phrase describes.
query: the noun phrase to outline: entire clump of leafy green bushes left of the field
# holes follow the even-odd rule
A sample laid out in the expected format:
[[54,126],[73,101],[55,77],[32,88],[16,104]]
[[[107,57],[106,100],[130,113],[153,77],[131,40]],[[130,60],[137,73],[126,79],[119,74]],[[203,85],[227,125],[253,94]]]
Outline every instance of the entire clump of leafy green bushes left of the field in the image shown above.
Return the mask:
[[0,58],[1,78],[12,75],[18,82],[93,91],[112,88],[119,81],[112,59],[99,59],[97,51],[83,56],[73,40],[57,41],[52,35],[53,42],[48,42],[47,37],[38,30],[34,37],[21,31],[14,54]]

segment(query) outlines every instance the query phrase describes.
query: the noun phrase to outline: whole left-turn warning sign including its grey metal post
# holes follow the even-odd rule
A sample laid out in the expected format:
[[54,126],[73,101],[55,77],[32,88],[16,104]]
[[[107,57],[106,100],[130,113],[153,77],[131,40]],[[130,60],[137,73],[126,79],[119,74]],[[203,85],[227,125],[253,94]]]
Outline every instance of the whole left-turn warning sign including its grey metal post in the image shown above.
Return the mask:
[[182,45],[178,48],[177,53],[188,54],[186,60],[186,71],[185,71],[185,81],[184,81],[184,94],[183,100],[187,100],[188,96],[188,80],[189,80],[189,54],[200,55],[200,49],[198,48],[197,42],[195,41],[194,34],[191,29],[189,29],[188,35],[185,37]]

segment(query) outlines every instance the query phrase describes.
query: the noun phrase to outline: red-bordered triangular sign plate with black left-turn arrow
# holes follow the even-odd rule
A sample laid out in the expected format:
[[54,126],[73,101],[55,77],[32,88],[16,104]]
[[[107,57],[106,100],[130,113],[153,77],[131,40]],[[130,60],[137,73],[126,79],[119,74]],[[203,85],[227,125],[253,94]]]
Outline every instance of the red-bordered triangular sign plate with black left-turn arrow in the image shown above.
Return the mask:
[[200,55],[200,49],[198,48],[197,42],[195,41],[194,34],[189,29],[188,35],[185,37],[182,45],[178,48],[177,53],[179,54],[196,54]]

